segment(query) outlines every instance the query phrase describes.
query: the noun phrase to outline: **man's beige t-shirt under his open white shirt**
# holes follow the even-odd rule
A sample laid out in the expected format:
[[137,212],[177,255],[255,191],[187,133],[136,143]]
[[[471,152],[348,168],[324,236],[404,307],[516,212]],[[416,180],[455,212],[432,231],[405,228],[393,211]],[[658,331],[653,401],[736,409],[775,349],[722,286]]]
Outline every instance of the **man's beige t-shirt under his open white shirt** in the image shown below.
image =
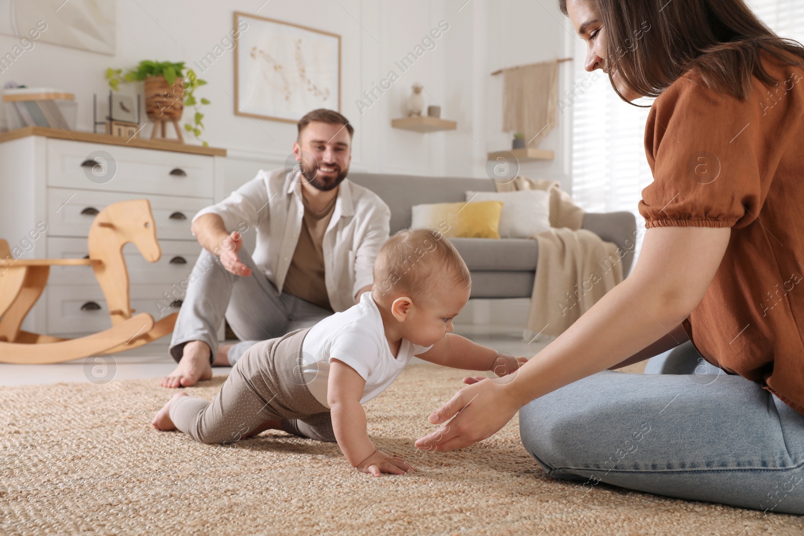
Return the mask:
[[330,297],[326,293],[324,280],[324,232],[335,211],[337,196],[320,212],[310,210],[304,195],[304,217],[301,219],[301,231],[293,259],[290,260],[288,275],[282,291],[309,301],[324,309],[332,310]]

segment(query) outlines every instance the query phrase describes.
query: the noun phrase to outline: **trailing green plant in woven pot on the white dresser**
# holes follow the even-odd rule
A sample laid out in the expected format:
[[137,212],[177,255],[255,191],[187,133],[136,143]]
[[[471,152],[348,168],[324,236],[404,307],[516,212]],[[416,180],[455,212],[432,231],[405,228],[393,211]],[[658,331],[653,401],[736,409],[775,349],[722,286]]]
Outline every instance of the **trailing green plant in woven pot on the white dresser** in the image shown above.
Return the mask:
[[[203,117],[201,105],[209,104],[209,100],[196,98],[195,89],[207,84],[205,80],[195,76],[192,69],[185,73],[184,62],[150,61],[143,59],[136,68],[106,69],[106,80],[109,88],[120,89],[121,82],[145,82],[146,115],[151,121],[178,121],[182,118],[184,106],[192,106],[192,121],[184,124],[184,129],[201,140],[203,134]],[[154,124],[154,129],[156,129]]]

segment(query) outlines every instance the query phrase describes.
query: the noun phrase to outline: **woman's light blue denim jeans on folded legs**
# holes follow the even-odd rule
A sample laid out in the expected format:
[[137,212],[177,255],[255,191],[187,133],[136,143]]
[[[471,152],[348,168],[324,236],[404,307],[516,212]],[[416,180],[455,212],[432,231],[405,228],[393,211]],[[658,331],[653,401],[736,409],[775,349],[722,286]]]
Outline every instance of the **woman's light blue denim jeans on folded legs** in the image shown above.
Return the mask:
[[724,374],[691,342],[646,374],[606,370],[519,411],[522,442],[552,477],[766,513],[804,514],[804,415]]

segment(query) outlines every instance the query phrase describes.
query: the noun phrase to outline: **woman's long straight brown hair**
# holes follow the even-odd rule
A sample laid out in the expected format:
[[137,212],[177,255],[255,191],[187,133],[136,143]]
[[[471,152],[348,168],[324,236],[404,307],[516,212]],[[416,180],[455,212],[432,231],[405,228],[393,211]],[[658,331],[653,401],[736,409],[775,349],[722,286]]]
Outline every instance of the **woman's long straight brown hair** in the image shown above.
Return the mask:
[[[761,62],[768,51],[786,65],[802,65],[804,46],[775,34],[743,0],[569,0],[594,2],[609,56],[609,80],[656,97],[692,68],[708,88],[745,99],[751,77],[774,80]],[[568,0],[559,0],[567,14]],[[647,28],[647,29],[646,29]],[[623,100],[612,84],[614,91]]]

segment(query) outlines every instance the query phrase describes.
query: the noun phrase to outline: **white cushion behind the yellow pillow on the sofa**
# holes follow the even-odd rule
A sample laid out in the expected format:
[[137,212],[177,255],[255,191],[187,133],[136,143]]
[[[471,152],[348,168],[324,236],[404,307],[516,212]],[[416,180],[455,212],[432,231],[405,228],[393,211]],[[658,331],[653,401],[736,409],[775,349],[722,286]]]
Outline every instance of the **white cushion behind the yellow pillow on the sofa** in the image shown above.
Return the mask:
[[531,238],[550,229],[550,193],[544,190],[466,192],[466,201],[502,201],[500,238]]

